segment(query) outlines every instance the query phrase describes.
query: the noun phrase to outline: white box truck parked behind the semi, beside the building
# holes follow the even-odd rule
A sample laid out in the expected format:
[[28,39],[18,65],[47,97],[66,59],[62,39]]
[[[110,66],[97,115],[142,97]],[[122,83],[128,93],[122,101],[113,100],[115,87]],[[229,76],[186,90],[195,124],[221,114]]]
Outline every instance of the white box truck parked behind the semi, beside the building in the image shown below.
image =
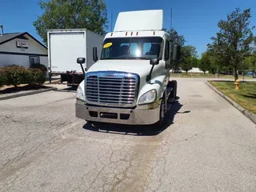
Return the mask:
[[[83,70],[94,64],[93,47],[102,49],[104,36],[85,29],[47,30],[49,74],[61,76],[67,86],[78,86],[84,79]],[[86,58],[86,66],[76,63],[78,57]]]

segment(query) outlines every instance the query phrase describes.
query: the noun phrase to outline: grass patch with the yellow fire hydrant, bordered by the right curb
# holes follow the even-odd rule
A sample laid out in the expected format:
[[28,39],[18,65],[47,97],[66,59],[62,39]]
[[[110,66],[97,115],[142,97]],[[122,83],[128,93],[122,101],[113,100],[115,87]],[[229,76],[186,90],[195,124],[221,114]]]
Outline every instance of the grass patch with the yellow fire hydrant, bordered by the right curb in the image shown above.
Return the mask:
[[256,82],[240,82],[239,90],[234,89],[234,82],[210,82],[210,84],[240,106],[256,114]]

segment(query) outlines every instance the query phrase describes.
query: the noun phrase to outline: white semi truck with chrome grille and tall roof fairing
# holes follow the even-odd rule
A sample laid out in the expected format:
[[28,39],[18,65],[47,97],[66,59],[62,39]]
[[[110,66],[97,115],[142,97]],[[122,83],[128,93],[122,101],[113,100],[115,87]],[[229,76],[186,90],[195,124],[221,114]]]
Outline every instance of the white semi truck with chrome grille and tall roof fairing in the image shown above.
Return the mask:
[[[177,82],[170,64],[179,58],[162,30],[162,10],[118,14],[114,31],[106,34],[100,58],[77,90],[76,117],[87,122],[162,126],[174,102]],[[82,66],[85,58],[78,58]],[[82,66],[83,67],[83,66]]]

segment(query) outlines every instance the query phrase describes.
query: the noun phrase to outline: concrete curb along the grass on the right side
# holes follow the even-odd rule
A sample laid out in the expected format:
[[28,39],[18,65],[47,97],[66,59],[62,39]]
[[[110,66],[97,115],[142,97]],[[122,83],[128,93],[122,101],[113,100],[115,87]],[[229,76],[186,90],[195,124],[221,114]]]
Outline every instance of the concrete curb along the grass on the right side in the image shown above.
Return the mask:
[[232,106],[238,109],[242,114],[244,114],[247,118],[250,118],[252,122],[256,124],[256,114],[251,113],[249,110],[246,110],[242,106],[239,106],[237,102],[234,102],[231,98],[227,97],[225,94],[222,94],[215,86],[212,86],[209,82],[206,82],[206,85],[213,89],[217,94],[225,98]]

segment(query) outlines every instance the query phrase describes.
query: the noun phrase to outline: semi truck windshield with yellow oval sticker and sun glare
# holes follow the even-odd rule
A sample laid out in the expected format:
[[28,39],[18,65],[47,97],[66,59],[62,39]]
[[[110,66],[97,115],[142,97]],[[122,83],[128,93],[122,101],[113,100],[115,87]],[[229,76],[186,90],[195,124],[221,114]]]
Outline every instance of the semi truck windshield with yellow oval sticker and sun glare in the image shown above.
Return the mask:
[[159,58],[162,38],[106,38],[101,59]]

